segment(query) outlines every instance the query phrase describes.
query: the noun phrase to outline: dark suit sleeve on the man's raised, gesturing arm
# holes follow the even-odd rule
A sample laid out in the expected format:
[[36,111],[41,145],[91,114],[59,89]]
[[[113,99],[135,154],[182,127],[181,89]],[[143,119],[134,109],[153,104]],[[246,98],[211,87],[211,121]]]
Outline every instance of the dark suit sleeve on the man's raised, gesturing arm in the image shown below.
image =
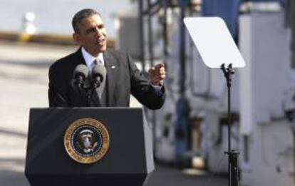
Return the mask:
[[165,102],[165,88],[162,86],[160,90],[152,87],[142,73],[133,63],[130,56],[128,58],[128,66],[130,71],[131,94],[138,99],[140,103],[146,107],[155,110],[162,107]]

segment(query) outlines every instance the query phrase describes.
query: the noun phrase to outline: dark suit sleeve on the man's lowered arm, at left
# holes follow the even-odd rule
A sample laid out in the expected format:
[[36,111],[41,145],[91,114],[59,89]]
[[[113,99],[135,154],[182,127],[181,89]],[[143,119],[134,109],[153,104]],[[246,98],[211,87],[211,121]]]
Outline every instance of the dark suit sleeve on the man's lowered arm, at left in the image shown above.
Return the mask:
[[49,88],[48,100],[49,107],[68,107],[66,96],[66,80],[62,76],[61,70],[56,66],[51,66],[49,69]]

